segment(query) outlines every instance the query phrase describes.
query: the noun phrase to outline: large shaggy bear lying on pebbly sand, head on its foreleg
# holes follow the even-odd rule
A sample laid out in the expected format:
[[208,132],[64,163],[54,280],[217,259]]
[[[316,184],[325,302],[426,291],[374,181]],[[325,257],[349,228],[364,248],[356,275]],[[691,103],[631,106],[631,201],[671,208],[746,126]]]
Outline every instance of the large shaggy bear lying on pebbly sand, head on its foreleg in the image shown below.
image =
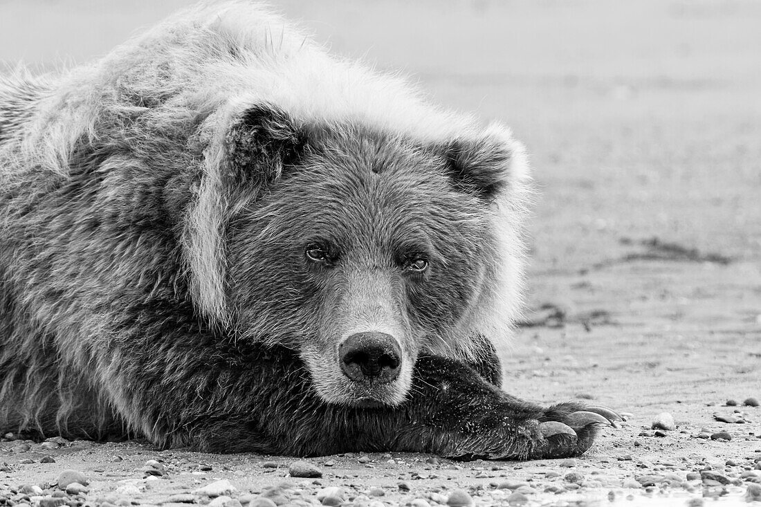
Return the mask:
[[501,391],[530,177],[504,126],[202,5],[0,84],[0,429],[207,451],[580,454]]

